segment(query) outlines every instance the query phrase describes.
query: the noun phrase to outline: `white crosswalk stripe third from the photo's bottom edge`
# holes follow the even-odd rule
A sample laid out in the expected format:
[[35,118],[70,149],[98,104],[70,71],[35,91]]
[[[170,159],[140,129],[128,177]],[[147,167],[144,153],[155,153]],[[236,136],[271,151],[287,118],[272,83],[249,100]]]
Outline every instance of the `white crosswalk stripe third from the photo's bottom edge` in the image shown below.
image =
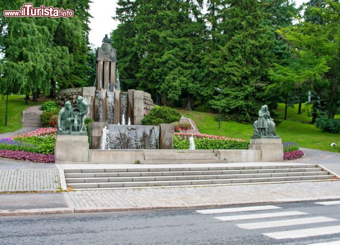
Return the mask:
[[312,217],[312,218],[303,218],[303,219],[291,219],[291,220],[283,220],[283,221],[266,221],[266,222],[256,222],[256,223],[246,223],[246,224],[236,224],[236,225],[240,228],[251,230],[251,229],[260,229],[260,228],[289,226],[289,225],[296,225],[296,224],[319,223],[319,222],[327,222],[327,221],[338,221],[338,220],[328,218],[328,217]]

